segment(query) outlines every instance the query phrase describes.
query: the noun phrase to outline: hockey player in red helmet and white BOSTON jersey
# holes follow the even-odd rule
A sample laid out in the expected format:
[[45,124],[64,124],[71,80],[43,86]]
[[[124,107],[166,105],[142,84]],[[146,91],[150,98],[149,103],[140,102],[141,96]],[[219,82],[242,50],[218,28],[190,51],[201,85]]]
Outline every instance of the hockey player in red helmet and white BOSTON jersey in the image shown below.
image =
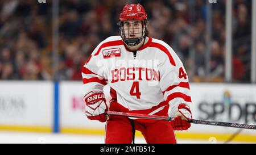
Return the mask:
[[[132,143],[135,130],[147,143],[176,143],[174,130],[192,119],[189,83],[183,64],[164,41],[147,36],[147,14],[140,4],[119,15],[120,36],[110,36],[92,52],[82,69],[85,113],[106,122],[105,143]],[[106,103],[103,87],[110,86]],[[105,110],[171,116],[171,122],[105,115]]]

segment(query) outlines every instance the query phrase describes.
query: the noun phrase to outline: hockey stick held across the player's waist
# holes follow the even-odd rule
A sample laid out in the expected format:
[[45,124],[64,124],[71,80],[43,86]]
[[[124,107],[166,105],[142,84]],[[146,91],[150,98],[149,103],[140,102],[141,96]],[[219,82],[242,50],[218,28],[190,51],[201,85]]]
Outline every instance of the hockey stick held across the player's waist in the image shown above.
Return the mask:
[[[130,112],[119,112],[119,111],[106,111],[105,114],[115,115],[115,116],[127,116],[127,117],[131,117],[131,118],[155,119],[155,120],[171,120],[172,119],[171,117],[168,117],[168,116],[134,114],[134,113],[130,113]],[[215,122],[215,121],[198,120],[198,119],[192,119],[192,120],[189,120],[188,122],[193,123],[193,124],[216,125],[216,126],[222,126],[222,127],[256,129],[256,125],[249,125],[249,124]]]

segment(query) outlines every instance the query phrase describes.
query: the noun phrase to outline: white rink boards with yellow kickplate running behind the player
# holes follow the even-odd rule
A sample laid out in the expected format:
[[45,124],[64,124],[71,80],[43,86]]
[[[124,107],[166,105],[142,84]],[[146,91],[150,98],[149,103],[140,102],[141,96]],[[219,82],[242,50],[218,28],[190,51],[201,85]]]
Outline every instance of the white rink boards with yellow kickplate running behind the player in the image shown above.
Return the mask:
[[[256,85],[191,83],[195,119],[256,124]],[[1,81],[0,129],[104,135],[105,124],[84,113],[82,82]],[[109,87],[104,88],[107,100]],[[225,141],[237,128],[192,124],[177,139]],[[137,136],[141,136],[137,132]],[[243,129],[234,141],[256,143],[256,131]]]

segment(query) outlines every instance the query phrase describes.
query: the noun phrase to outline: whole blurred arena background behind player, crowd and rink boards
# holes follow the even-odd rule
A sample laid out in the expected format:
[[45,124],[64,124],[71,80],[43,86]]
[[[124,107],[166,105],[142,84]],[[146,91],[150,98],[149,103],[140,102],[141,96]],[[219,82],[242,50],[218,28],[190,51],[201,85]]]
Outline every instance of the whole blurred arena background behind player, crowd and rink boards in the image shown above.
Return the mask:
[[[255,1],[2,0],[0,143],[104,143],[104,123],[84,114],[81,68],[102,40],[119,35],[126,3],[144,6],[149,36],[183,61],[193,118],[256,124]],[[108,86],[105,94],[109,100]],[[180,143],[256,143],[253,130],[209,125],[176,136]],[[139,132],[136,139],[144,143]]]

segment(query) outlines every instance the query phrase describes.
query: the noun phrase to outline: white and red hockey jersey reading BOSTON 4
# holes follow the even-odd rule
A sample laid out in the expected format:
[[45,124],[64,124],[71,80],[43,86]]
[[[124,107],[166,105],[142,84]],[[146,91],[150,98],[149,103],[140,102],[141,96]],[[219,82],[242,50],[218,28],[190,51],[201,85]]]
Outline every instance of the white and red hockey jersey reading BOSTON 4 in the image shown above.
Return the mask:
[[104,85],[110,86],[113,111],[174,116],[177,104],[191,103],[182,62],[168,44],[152,37],[136,54],[120,36],[108,37],[92,52],[82,78],[85,94],[102,93]]

